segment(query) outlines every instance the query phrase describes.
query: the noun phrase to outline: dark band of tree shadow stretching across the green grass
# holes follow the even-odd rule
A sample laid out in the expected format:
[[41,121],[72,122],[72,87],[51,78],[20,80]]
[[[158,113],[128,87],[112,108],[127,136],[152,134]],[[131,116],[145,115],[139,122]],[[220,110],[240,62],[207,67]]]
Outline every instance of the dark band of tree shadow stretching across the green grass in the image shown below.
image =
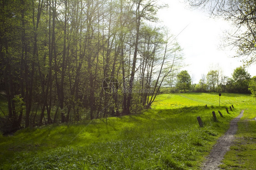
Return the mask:
[[[221,110],[224,118],[217,115],[218,122],[214,122],[212,120],[212,111],[214,110],[215,113]],[[210,108],[189,106],[175,109],[144,110],[141,114],[92,120],[92,123],[89,121],[86,124],[28,128],[17,131],[13,136],[1,137],[0,150],[6,155],[1,161],[10,159],[15,152],[52,149],[67,145],[91,145],[113,140],[142,139],[156,134],[176,133],[192,127],[200,129],[196,120],[197,116],[201,116],[205,126],[218,126],[222,132],[224,125],[227,125],[229,120],[235,117],[234,113],[236,112],[235,110],[230,115],[225,114],[225,106]],[[18,150],[12,150],[13,147],[18,148]]]

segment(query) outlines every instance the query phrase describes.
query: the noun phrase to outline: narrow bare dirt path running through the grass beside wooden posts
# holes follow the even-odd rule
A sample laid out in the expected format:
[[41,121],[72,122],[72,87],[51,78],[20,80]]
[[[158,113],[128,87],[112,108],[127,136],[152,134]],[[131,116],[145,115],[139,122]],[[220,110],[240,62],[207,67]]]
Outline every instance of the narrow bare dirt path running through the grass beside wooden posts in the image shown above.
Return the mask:
[[240,115],[230,121],[230,128],[225,133],[225,135],[221,136],[217,143],[212,148],[210,155],[207,156],[204,165],[202,166],[202,170],[220,170],[218,167],[220,165],[220,161],[223,160],[225,153],[229,150],[230,145],[234,139],[234,135],[237,131],[237,122],[243,116],[244,110],[241,111]]

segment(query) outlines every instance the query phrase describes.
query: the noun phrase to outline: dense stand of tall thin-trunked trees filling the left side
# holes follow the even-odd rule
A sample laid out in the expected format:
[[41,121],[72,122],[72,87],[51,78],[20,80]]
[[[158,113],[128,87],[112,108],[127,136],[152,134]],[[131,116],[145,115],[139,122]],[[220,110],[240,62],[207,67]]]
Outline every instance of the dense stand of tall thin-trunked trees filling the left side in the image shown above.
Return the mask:
[[8,101],[1,126],[150,108],[181,60],[168,32],[150,26],[162,7],[157,0],[1,0],[0,88]]

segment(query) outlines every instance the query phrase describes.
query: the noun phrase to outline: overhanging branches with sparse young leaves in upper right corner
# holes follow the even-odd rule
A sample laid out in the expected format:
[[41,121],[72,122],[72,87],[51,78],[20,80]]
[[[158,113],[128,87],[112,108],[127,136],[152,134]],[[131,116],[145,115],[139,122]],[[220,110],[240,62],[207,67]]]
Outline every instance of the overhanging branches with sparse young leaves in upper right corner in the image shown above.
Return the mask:
[[246,65],[256,62],[256,5],[255,0],[188,0],[192,6],[210,9],[211,15],[219,15],[236,26],[227,35],[227,45],[237,47],[237,57],[244,57]]

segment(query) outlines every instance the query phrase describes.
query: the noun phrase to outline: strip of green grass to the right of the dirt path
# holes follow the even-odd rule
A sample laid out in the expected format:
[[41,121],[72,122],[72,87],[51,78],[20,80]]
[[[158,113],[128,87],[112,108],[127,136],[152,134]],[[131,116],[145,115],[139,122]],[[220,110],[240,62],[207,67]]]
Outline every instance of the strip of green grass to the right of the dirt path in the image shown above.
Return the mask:
[[220,167],[224,170],[256,170],[256,106],[245,110],[238,122],[236,140]]

